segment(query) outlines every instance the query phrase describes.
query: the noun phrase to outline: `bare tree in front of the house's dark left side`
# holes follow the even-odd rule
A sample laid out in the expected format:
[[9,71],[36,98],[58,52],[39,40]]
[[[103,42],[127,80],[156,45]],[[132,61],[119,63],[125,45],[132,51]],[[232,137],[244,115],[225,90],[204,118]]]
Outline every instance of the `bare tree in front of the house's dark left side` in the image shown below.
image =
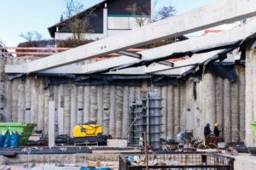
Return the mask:
[[83,8],[83,4],[77,0],[66,0],[66,10],[63,14],[66,18],[70,19],[68,27],[70,31],[72,31],[74,39],[83,39],[85,33],[94,32],[90,25],[90,17],[93,15],[93,11],[83,16],[79,16],[79,13]]

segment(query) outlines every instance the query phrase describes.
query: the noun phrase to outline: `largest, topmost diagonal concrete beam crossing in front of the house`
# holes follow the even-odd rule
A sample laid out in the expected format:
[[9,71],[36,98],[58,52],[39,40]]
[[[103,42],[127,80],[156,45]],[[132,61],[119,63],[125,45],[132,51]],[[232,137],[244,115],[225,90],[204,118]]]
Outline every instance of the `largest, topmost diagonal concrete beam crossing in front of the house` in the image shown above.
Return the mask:
[[177,37],[252,17],[256,15],[255,6],[256,1],[253,0],[220,0],[218,3],[197,8],[188,13],[177,14],[172,18],[160,20],[114,37],[91,42],[44,59],[33,60],[24,64],[25,72],[44,71],[62,65],[69,65],[84,59],[92,59],[127,48],[160,41],[167,37]]

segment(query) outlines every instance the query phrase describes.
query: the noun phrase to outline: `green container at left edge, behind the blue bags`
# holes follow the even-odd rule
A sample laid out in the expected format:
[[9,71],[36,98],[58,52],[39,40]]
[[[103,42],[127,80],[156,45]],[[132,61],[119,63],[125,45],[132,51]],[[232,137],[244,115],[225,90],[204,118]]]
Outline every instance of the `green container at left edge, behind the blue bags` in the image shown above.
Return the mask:
[[0,122],[0,133],[7,130],[9,132],[17,131],[20,134],[19,145],[26,145],[28,138],[32,134],[32,130],[37,125],[37,123]]

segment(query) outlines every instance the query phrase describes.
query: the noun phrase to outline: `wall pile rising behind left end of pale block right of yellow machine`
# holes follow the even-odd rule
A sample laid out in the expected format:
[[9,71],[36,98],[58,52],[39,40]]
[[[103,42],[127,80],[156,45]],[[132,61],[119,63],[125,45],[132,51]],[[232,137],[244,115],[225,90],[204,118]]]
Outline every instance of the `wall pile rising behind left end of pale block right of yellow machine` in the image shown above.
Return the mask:
[[115,126],[116,126],[116,119],[115,119],[115,87],[112,85],[110,86],[110,120],[109,120],[109,134],[115,137]]

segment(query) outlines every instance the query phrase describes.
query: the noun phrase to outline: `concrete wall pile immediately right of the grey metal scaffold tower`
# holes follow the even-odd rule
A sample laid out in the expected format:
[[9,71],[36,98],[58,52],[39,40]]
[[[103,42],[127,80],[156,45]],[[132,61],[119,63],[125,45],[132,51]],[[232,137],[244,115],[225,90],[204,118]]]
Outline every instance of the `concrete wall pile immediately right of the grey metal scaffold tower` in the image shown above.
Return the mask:
[[167,87],[163,87],[161,89],[161,133],[160,133],[160,137],[166,139],[167,136],[167,131],[166,131],[166,125],[167,125]]

